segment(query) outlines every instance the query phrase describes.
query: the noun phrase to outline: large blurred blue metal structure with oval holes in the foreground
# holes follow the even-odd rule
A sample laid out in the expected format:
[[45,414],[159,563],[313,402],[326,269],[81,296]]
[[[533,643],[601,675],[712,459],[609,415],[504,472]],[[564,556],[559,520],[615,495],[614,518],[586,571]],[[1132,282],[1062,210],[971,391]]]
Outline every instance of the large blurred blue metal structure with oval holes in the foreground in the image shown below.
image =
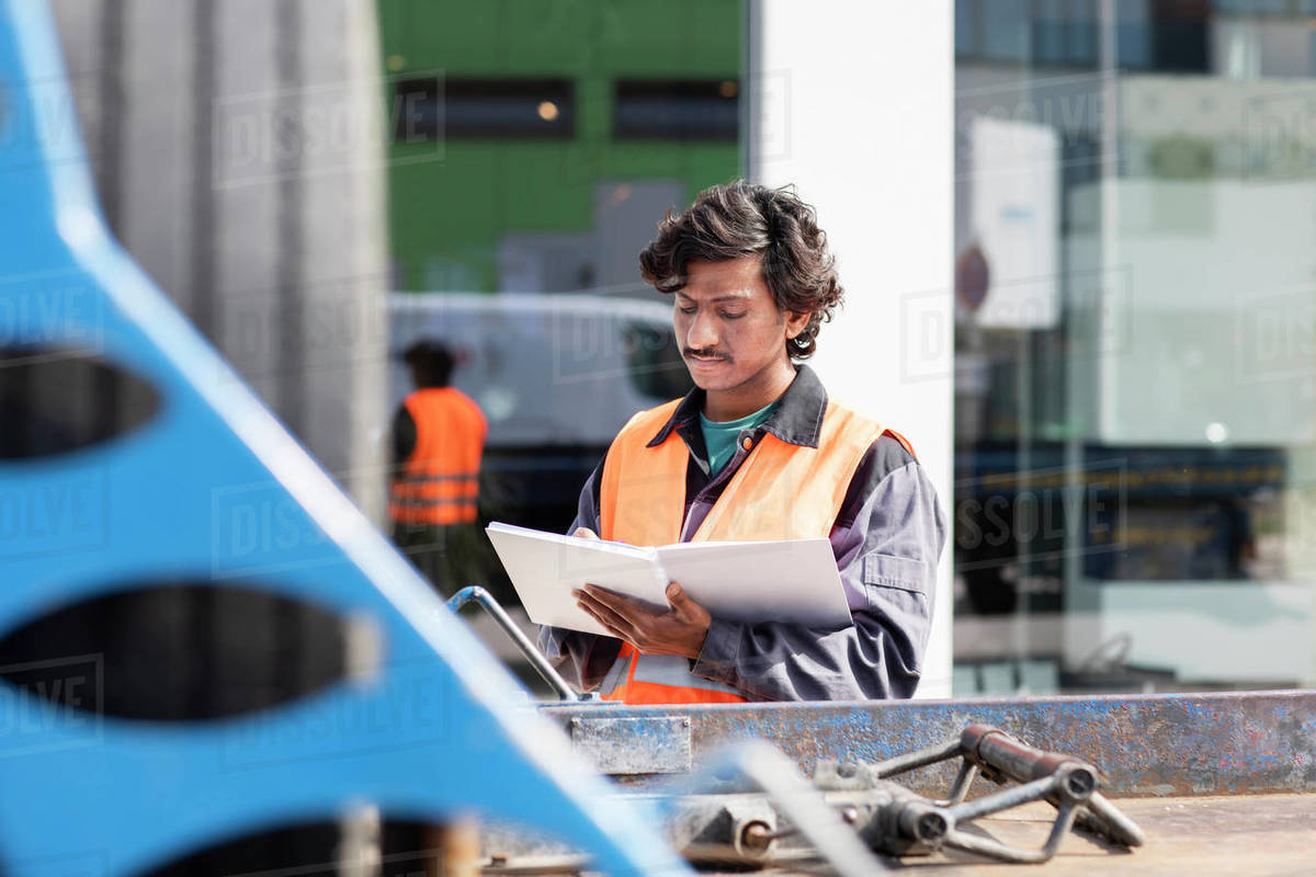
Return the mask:
[[[79,485],[84,504],[82,526],[29,534],[0,557],[0,634],[133,582],[255,569],[265,588],[365,619],[380,647],[365,678],[182,724],[61,709],[0,684],[0,868],[64,873],[86,856],[96,873],[136,873],[368,802],[390,817],[532,826],[609,873],[683,873],[657,822],[576,760],[111,239],[75,118],[45,3],[0,0],[0,308],[13,317],[0,346],[96,352],[161,398],[154,418],[108,442],[0,462],[0,494],[38,508]],[[234,510],[268,508],[301,536],[233,551]]]

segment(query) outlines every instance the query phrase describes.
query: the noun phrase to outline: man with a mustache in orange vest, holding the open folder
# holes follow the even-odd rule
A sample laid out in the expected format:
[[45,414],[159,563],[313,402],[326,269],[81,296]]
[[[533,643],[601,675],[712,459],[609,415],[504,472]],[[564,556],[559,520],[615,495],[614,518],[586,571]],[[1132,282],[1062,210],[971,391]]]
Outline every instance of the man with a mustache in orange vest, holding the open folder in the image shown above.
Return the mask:
[[547,627],[541,648],[582,689],[628,703],[909,697],[946,522],[908,442],[801,364],[842,298],[812,208],[736,181],[658,227],[641,272],[674,296],[695,389],[622,427],[574,531],[633,544],[826,536],[854,623],[713,618],[679,582],[671,610],[653,611],[590,585],[579,605],[612,636]]

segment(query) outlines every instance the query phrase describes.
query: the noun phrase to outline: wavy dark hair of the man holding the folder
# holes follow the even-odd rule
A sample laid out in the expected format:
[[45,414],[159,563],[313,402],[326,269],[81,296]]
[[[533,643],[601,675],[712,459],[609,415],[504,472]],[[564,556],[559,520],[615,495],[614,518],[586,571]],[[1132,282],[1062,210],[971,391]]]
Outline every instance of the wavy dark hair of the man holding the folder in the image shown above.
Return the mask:
[[669,210],[658,224],[658,237],[640,252],[640,273],[658,292],[676,292],[686,285],[691,259],[745,256],[762,256],[763,280],[780,310],[809,314],[804,331],[791,341],[791,356],[808,359],[845,291],[826,234],[794,187],[734,180],[704,189],[688,210]]

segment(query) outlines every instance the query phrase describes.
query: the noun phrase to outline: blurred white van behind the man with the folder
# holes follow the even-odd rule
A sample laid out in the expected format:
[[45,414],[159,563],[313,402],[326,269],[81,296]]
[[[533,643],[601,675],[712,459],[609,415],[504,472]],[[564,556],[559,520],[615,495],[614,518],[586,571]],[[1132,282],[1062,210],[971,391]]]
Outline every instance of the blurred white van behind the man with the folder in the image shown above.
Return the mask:
[[[453,385],[490,422],[484,471],[503,519],[561,529],[584,479],[636,412],[682,396],[690,373],[671,305],[579,293],[393,293],[393,409],[413,388],[400,354],[433,338]],[[565,521],[563,521],[565,518]]]

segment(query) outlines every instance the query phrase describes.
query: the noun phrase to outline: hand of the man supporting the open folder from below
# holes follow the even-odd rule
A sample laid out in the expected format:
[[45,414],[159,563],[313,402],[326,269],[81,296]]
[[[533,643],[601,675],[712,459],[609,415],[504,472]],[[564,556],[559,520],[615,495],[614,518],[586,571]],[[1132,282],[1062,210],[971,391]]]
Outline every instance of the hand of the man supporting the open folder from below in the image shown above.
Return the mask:
[[697,659],[713,617],[686,596],[675,581],[667,585],[669,611],[654,611],[611,590],[586,585],[575,590],[576,605],[590,613],[617,639],[646,655],[680,655]]

